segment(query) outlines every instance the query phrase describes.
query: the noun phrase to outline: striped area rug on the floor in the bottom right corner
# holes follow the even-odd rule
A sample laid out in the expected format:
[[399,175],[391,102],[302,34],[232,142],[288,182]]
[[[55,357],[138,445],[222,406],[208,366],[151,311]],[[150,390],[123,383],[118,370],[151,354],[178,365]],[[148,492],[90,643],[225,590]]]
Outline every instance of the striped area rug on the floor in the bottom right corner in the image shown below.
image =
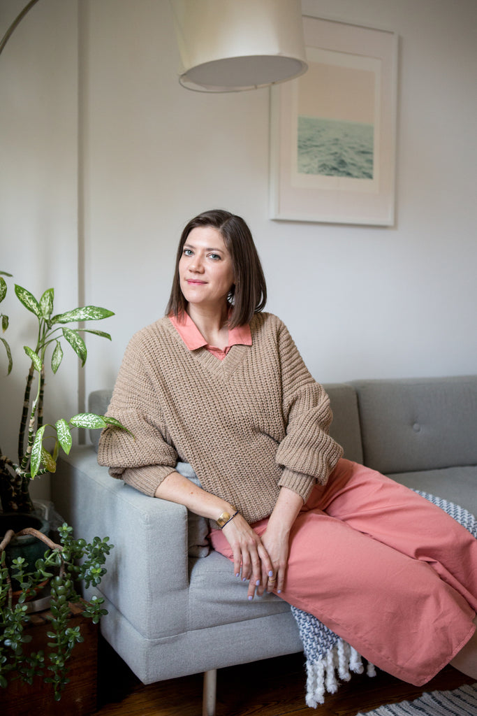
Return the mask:
[[455,691],[433,691],[415,701],[380,706],[356,716],[477,716],[477,684]]

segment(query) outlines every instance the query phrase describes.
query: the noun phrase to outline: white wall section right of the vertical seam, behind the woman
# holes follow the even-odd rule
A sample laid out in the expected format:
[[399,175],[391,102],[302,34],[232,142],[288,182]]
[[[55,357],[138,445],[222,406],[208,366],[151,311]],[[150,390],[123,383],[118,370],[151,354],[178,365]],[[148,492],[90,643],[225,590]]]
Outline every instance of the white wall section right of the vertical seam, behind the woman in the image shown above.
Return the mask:
[[166,1],[89,2],[87,296],[117,311],[111,386],[132,333],[162,315],[182,226],[205,208],[250,223],[282,316],[317,379],[476,370],[474,0],[303,0],[305,14],[400,36],[394,228],[270,221],[269,91],[177,82]]

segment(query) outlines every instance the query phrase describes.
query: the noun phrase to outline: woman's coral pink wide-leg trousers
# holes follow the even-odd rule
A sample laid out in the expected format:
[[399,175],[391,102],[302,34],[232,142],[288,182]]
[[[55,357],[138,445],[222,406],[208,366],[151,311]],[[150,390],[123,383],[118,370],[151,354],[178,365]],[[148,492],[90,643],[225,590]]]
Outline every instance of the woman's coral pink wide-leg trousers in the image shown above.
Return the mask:
[[[261,535],[267,522],[252,527]],[[223,533],[211,538],[232,560]],[[421,685],[475,631],[477,540],[412,490],[342,459],[297,516],[280,596],[375,666]]]

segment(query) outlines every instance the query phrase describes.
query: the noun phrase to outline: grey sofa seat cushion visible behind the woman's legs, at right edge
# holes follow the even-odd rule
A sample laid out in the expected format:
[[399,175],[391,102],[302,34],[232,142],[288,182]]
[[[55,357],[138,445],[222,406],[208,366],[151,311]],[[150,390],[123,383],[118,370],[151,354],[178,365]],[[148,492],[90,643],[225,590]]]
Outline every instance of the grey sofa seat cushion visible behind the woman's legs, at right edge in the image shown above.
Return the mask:
[[477,515],[477,465],[394,473],[388,477],[413,490],[438,495]]

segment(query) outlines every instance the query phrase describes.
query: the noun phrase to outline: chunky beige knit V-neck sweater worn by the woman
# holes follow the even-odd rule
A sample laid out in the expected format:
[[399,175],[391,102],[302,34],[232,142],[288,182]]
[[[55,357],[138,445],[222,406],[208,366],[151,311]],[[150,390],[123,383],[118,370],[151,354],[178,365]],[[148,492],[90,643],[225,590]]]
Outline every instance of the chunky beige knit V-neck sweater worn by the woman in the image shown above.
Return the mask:
[[187,349],[167,317],[135,334],[107,413],[134,439],[107,427],[99,464],[154,495],[183,460],[250,523],[270,515],[282,485],[306,501],[343,453],[328,435],[328,395],[277,316],[256,314],[250,329],[252,346],[222,361]]

